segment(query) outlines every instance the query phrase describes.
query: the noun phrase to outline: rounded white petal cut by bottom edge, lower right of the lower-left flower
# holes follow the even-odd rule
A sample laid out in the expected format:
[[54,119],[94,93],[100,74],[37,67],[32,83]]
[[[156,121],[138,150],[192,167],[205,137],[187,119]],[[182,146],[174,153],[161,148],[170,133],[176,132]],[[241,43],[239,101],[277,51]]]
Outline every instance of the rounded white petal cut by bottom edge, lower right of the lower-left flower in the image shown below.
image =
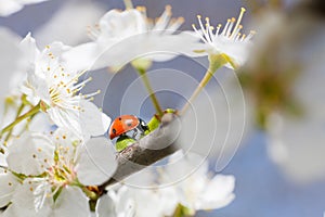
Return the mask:
[[88,197],[79,188],[66,187],[55,201],[53,217],[89,217]]

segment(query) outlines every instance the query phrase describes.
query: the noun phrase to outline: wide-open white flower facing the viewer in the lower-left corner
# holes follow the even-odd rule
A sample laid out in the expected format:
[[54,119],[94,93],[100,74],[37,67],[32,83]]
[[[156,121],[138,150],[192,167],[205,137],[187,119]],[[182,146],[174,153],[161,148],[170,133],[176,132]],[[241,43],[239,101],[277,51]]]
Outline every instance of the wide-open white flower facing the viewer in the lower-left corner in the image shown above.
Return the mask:
[[[57,129],[50,138],[25,132],[8,149],[1,173],[4,215],[89,216],[86,186],[96,186],[116,169],[113,145],[105,138],[82,140]],[[76,208],[75,208],[76,207]]]

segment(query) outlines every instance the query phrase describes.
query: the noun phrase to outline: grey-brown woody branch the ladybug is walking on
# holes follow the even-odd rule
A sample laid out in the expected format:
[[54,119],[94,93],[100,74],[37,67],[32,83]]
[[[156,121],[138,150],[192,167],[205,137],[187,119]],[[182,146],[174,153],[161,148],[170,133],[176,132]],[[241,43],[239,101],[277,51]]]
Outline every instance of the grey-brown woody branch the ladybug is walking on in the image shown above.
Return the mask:
[[110,179],[99,187],[99,190],[104,192],[106,187],[121,181],[128,176],[174,153],[178,150],[174,143],[179,136],[180,127],[180,119],[174,114],[165,114],[158,129],[117,153],[117,169]]

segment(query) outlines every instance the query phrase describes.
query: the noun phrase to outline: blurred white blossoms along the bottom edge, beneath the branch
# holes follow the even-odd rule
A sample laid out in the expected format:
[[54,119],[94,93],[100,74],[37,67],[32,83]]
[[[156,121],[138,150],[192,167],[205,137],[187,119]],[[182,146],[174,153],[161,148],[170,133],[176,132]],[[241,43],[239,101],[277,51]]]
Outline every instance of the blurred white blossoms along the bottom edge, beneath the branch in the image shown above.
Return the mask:
[[[178,152],[170,156],[165,168],[150,175],[147,186],[140,188],[126,180],[127,184],[117,190],[108,189],[98,202],[96,214],[102,216],[173,216],[178,209],[193,216],[196,210],[210,210],[229,205],[235,197],[233,176],[208,174],[208,163],[199,155],[184,156]],[[156,175],[159,175],[158,177]],[[156,178],[153,178],[155,177]],[[143,178],[143,173],[133,175]],[[161,184],[161,186],[160,186]],[[150,199],[150,200],[147,200]]]

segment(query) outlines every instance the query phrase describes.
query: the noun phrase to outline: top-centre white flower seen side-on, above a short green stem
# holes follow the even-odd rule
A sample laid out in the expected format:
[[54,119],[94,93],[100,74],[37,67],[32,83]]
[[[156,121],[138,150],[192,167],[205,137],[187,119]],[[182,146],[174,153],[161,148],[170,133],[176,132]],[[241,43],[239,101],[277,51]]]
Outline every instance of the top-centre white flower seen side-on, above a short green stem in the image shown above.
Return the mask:
[[191,34],[177,34],[183,22],[183,17],[171,18],[169,5],[156,22],[146,16],[144,7],[110,10],[89,29],[93,42],[80,44],[63,56],[76,66],[93,69],[120,67],[139,58],[146,64],[168,61],[181,53],[190,53],[191,44],[198,40]]

